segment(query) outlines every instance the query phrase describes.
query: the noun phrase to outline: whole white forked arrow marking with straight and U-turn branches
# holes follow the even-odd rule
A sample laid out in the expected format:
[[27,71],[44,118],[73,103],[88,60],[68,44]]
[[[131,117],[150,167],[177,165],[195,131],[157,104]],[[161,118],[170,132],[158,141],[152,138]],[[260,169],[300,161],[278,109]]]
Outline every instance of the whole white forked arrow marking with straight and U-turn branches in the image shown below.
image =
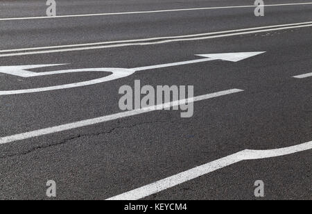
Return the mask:
[[110,72],[112,73],[110,76],[105,76],[99,79],[93,79],[90,81],[83,81],[79,83],[71,83],[66,85],[55,85],[51,87],[45,88],[31,88],[26,90],[9,90],[9,91],[0,91],[0,95],[8,95],[8,94],[26,94],[26,93],[34,93],[34,92],[46,92],[51,90],[60,90],[65,88],[76,88],[86,85],[94,85],[98,83],[104,83],[107,81],[112,81],[115,79],[121,79],[126,76],[130,76],[135,72],[145,71],[149,69],[158,69],[163,67],[173,67],[179,65],[188,65],[194,63],[203,63],[211,60],[227,60],[231,62],[238,62],[240,60],[244,60],[246,58],[250,58],[252,56],[257,56],[261,53],[265,52],[242,52],[242,53],[214,53],[214,54],[202,54],[197,56],[202,56],[205,58],[198,59],[198,60],[189,60],[179,63],[168,63],[162,65],[152,65],[146,67],[136,67],[132,69],[127,68],[86,68],[86,69],[67,69],[67,70],[58,70],[53,72],[29,72],[27,69],[39,68],[39,67],[51,67],[51,66],[58,66],[58,65],[66,65],[66,64],[50,64],[50,65],[18,65],[18,66],[1,66],[0,73],[3,74],[10,74],[14,76],[21,76],[21,77],[34,77],[34,76],[47,76],[53,74],[68,74],[68,73],[78,73],[78,72]]

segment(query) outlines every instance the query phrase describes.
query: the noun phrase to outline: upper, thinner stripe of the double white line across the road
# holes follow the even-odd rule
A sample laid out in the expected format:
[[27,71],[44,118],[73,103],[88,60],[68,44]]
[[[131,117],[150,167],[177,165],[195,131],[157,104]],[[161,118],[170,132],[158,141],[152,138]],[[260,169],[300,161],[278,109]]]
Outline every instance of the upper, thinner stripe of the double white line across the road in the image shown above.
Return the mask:
[[254,27],[254,28],[241,28],[241,29],[229,30],[229,31],[216,31],[216,32],[209,32],[209,33],[199,33],[199,34],[191,34],[191,35],[177,35],[177,36],[158,37],[158,38],[144,38],[144,39],[137,39],[137,40],[119,40],[119,41],[110,41],[110,42],[67,44],[67,45],[48,46],[48,47],[7,49],[7,50],[0,50],[0,53],[17,52],[17,51],[36,51],[36,50],[42,50],[42,49],[62,49],[62,48],[69,48],[69,47],[84,47],[84,46],[94,46],[94,45],[103,45],[103,44],[148,42],[148,41],[153,41],[153,40],[171,40],[171,39],[195,38],[195,37],[198,38],[198,37],[203,37],[203,36],[207,36],[207,35],[217,35],[217,34],[223,34],[223,33],[239,33],[242,31],[254,31],[254,30],[261,30],[261,29],[266,29],[266,28],[279,28],[279,27],[298,26],[298,25],[306,25],[306,24],[312,24],[312,22],[299,22],[299,23],[293,23],[293,24],[279,24],[279,25],[270,25],[270,26],[260,26],[260,27]]

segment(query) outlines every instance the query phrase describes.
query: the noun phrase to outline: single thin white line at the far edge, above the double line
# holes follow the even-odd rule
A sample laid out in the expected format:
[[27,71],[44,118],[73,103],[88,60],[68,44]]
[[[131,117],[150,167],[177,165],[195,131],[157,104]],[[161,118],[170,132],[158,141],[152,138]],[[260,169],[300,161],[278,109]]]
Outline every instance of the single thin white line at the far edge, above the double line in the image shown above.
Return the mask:
[[[277,7],[277,6],[306,6],[311,5],[312,2],[306,3],[281,3],[270,4],[265,7]],[[184,9],[172,9],[172,10],[148,10],[148,11],[136,11],[136,12],[121,12],[121,13],[96,13],[96,14],[81,14],[81,15],[59,15],[55,17],[12,17],[1,18],[0,21],[13,21],[13,20],[29,20],[29,19],[57,19],[57,18],[69,18],[69,17],[94,17],[94,16],[106,16],[106,15],[134,15],[134,14],[146,14],[146,13],[168,13],[168,12],[182,12],[191,10],[216,10],[216,9],[234,9],[234,8],[255,8],[257,6],[224,6],[224,7],[211,7],[211,8],[184,8]]]

